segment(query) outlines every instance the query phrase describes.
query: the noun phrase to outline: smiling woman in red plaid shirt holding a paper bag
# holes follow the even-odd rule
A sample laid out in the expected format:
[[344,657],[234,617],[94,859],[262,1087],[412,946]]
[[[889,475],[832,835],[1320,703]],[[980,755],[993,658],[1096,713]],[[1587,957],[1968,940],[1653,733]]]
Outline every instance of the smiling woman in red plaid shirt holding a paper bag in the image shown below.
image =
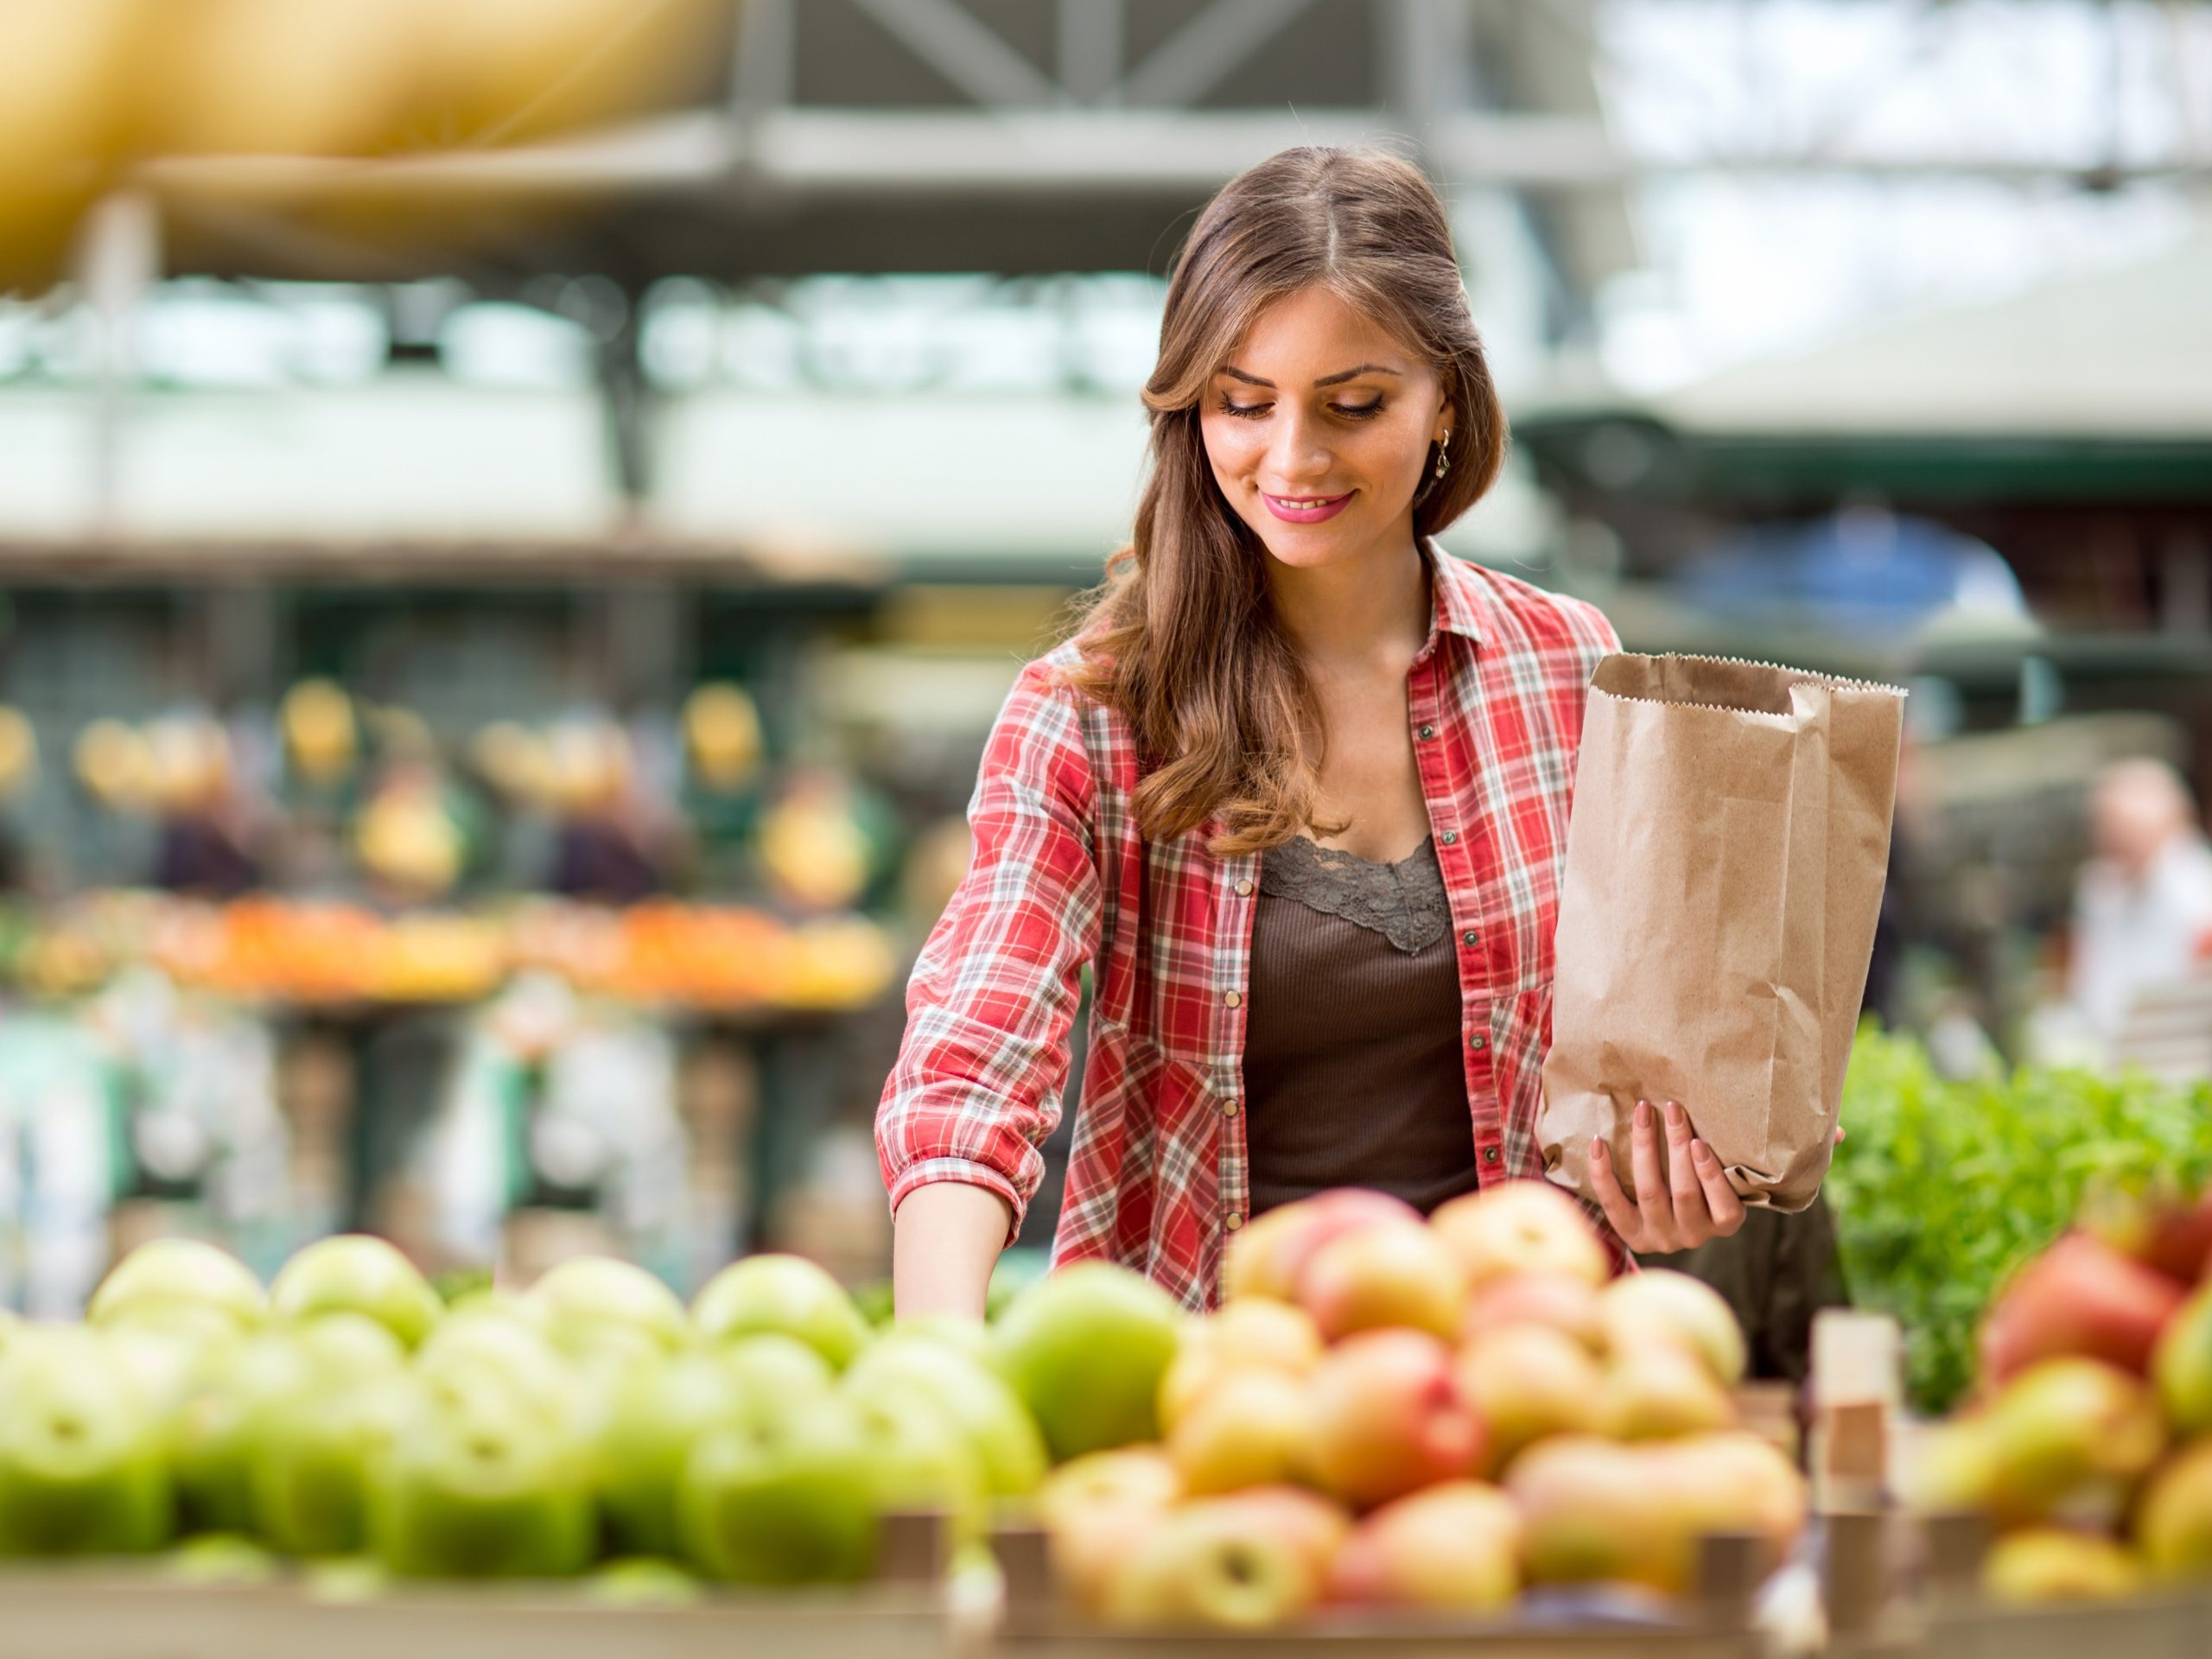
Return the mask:
[[[1433,542],[1506,431],[1427,179],[1321,146],[1232,179],[1177,261],[1144,400],[1135,538],[1009,695],[907,989],[876,1119],[902,1316],[980,1314],[1086,962],[1055,1263],[1115,1259],[1206,1307],[1272,1203],[1433,1208],[1544,1172],[1568,790],[1619,641]],[[1593,1148],[1626,1248],[1741,1223],[1679,1106],[1637,1108],[1632,1157],[1630,1197]]]

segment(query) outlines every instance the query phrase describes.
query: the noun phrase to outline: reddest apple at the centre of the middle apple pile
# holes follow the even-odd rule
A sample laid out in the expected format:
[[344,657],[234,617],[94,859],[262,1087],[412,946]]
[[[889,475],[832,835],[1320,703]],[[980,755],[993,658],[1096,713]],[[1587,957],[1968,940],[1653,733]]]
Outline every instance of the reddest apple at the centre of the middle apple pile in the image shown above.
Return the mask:
[[1427,1332],[1360,1332],[1314,1369],[1314,1475],[1374,1509],[1482,1458],[1482,1418],[1460,1394],[1451,1349]]

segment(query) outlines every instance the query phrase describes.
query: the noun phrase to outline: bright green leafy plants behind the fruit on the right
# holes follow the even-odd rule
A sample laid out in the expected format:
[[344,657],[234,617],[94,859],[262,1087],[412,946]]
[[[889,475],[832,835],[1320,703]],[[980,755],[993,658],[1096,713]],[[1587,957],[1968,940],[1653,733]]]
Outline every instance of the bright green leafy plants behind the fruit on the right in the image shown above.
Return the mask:
[[1843,1091],[1849,1137],[1827,1192],[1851,1301],[1905,1327],[1911,1402],[1973,1385],[1973,1338],[2006,1274],[2090,1194],[2212,1177],[2212,1086],[2141,1073],[2020,1068],[1942,1077],[1911,1037],[1860,1031]]

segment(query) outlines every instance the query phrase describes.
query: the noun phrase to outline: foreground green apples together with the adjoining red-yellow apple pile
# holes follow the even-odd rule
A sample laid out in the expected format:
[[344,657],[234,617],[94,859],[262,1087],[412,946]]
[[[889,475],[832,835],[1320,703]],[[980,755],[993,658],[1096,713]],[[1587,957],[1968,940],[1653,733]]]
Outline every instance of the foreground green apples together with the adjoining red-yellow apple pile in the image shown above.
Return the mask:
[[697,1595],[854,1584],[883,1517],[922,1509],[964,1546],[1042,1526],[1082,1617],[1117,1626],[1493,1615],[1599,1579],[1666,1621],[1701,1533],[1774,1566],[1805,1489],[1736,1416],[1719,1298],[1608,1272],[1540,1183],[1433,1223],[1356,1190],[1276,1210],[1201,1321],[1110,1263],[989,1325],[878,1329],[790,1254],[686,1310],[606,1256],[445,1301],[372,1237],[268,1290],[166,1239],[82,1325],[0,1325],[0,1557],[290,1557],[358,1593],[657,1562]]

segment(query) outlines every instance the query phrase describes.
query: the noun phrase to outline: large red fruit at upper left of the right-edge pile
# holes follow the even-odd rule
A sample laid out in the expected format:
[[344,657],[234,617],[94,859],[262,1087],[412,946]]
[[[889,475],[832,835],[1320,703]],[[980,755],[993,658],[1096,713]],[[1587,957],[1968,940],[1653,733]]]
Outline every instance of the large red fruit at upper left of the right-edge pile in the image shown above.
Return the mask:
[[1997,1294],[1982,1323],[1982,1371],[2004,1383],[2059,1354],[2143,1371],[2185,1294],[2101,1239],[2068,1232]]

